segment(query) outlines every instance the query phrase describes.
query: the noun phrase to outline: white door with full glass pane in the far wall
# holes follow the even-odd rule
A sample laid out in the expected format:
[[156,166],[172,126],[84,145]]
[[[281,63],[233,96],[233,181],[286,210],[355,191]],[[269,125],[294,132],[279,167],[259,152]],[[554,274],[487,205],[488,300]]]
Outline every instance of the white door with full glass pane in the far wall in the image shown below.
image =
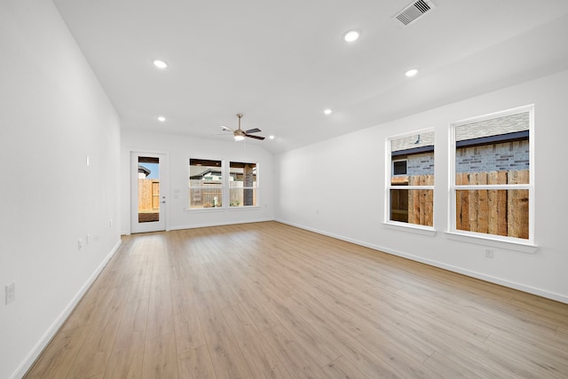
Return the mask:
[[131,233],[166,230],[166,155],[130,153]]

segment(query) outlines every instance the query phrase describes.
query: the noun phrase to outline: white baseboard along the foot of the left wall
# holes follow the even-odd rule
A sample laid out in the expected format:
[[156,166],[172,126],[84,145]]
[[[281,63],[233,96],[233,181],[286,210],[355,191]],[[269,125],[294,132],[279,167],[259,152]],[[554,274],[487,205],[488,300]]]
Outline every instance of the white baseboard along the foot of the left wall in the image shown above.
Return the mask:
[[67,304],[67,307],[65,307],[63,312],[59,314],[59,317],[53,322],[53,324],[51,324],[51,327],[47,329],[45,334],[43,334],[42,338],[39,340],[38,343],[36,343],[36,346],[34,346],[34,349],[29,352],[28,357],[26,357],[26,359],[24,359],[24,361],[16,369],[14,374],[11,376],[12,379],[19,379],[22,378],[24,375],[26,375],[29,368],[32,367],[34,362],[36,362],[36,359],[42,353],[43,349],[45,349],[48,343],[51,342],[51,339],[57,334],[59,328],[63,326],[63,324],[65,323],[71,312],[73,312],[73,310],[75,309],[75,306],[79,304],[79,301],[81,301],[87,290],[91,288],[92,283],[94,283],[94,281],[99,277],[100,272],[103,271],[106,264],[114,256],[114,253],[116,253],[116,251],[121,246],[121,244],[122,244],[121,240],[116,242],[114,248],[105,257],[105,259],[103,259],[103,261],[100,263],[99,267],[97,267],[95,272],[91,274],[91,277],[83,284],[83,287],[79,289],[79,291],[73,297],[71,302]]

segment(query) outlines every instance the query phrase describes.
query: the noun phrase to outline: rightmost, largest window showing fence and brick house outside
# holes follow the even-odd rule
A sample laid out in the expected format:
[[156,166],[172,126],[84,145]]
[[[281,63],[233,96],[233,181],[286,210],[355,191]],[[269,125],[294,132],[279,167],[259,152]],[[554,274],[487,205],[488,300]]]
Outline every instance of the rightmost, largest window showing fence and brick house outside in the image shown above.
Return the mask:
[[533,107],[452,125],[454,232],[533,241]]

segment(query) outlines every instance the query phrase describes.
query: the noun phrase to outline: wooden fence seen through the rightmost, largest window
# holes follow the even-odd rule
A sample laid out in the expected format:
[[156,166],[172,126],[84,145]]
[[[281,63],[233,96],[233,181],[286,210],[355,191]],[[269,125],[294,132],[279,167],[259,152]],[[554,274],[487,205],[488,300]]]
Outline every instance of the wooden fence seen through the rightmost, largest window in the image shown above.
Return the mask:
[[[528,170],[456,174],[456,185],[529,183]],[[473,190],[456,193],[456,229],[529,238],[529,191]]]

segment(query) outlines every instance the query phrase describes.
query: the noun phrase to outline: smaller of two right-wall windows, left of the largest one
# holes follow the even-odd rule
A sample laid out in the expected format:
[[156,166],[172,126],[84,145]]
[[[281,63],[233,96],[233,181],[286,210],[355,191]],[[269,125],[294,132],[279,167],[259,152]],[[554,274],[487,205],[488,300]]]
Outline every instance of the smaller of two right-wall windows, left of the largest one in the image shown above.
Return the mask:
[[387,222],[434,225],[434,131],[389,138]]

